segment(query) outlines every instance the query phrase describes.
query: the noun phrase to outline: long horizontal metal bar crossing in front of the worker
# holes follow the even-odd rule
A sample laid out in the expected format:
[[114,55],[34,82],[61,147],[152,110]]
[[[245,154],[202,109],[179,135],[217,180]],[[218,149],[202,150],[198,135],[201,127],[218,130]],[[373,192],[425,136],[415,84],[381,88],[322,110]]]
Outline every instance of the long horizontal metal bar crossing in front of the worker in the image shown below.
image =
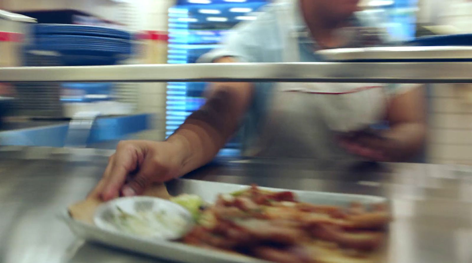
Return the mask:
[[472,62],[3,67],[0,68],[0,82],[472,83]]

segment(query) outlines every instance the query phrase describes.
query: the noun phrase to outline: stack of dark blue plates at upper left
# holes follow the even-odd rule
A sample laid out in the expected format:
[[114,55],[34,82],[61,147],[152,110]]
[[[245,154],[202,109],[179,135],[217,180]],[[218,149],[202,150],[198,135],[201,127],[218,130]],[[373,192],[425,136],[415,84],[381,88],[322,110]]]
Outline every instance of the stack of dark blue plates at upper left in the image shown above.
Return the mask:
[[[32,25],[31,51],[59,53],[56,66],[113,65],[132,53],[132,35],[125,31],[87,25]],[[28,65],[34,66],[34,65]]]

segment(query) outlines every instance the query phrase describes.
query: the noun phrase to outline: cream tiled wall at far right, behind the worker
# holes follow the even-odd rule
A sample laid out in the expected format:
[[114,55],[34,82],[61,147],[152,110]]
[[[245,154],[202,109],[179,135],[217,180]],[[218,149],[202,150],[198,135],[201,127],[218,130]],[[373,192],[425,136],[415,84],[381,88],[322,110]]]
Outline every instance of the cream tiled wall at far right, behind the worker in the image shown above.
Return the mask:
[[[421,0],[423,22],[452,25],[472,33],[472,2],[469,0]],[[429,8],[429,9],[428,9]],[[469,96],[469,97],[468,97]],[[432,84],[430,87],[430,133],[428,161],[472,165],[472,85]]]

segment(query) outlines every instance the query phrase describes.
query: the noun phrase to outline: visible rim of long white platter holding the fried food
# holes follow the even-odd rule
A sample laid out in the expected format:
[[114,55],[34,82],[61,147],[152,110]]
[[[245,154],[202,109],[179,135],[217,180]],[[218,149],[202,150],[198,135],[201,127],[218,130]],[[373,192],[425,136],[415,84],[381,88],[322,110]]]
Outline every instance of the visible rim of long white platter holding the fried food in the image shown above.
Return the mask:
[[[247,188],[246,185],[229,184],[221,182],[199,181],[191,179],[177,179],[168,183],[168,190],[171,195],[182,193],[196,194],[207,202],[214,202],[219,193],[230,193],[240,189]],[[273,191],[283,191],[287,189],[266,188]],[[301,201],[314,204],[341,205],[347,206],[351,202],[360,202],[362,204],[385,203],[387,199],[384,197],[353,195],[353,194],[337,194],[313,191],[293,191]],[[102,230],[94,225],[76,221],[71,218],[67,209],[60,214],[60,218],[64,220],[69,228],[78,238],[87,241],[102,243],[111,247],[118,247],[128,251],[150,255],[161,259],[183,263],[267,263],[252,257],[221,252],[218,250],[194,247],[178,242],[164,240],[146,240],[135,238],[125,234],[119,234]]]

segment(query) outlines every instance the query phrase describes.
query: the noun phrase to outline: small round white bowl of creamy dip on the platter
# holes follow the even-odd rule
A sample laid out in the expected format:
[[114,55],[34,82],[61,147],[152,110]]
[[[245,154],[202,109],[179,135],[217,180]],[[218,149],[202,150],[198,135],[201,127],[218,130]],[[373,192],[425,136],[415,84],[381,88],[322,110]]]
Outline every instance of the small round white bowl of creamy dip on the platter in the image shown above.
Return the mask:
[[194,225],[192,215],[184,207],[157,197],[111,200],[97,208],[93,222],[103,230],[169,240],[182,238]]

